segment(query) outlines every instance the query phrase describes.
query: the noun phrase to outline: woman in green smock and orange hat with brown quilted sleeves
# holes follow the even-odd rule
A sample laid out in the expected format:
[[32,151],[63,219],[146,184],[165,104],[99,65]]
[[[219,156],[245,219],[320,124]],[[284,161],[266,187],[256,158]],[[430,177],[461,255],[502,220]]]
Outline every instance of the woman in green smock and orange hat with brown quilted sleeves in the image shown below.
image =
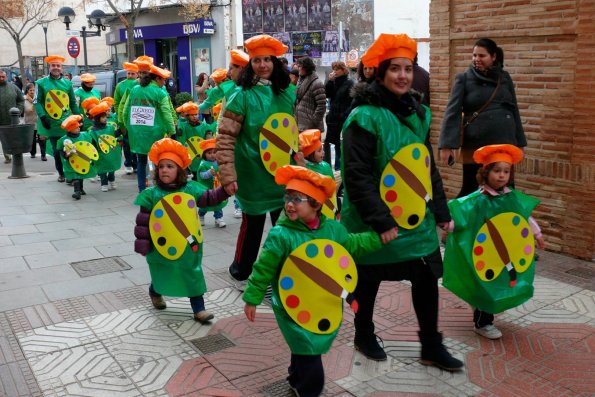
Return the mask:
[[274,113],[293,115],[295,91],[277,57],[287,46],[269,35],[251,37],[244,43],[250,64],[242,71],[239,86],[227,101],[217,128],[217,163],[223,186],[235,193],[242,207],[231,276],[246,280],[258,255],[266,214],[274,224],[283,208],[283,188],[260,157],[259,135]]

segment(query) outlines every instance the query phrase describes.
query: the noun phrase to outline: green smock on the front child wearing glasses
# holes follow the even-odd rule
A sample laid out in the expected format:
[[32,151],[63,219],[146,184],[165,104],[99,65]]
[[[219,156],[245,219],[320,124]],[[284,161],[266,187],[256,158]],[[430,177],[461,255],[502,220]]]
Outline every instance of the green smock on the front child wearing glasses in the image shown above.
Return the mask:
[[[259,305],[267,286],[273,289],[272,306],[285,341],[293,354],[319,355],[327,353],[339,332],[316,334],[298,325],[286,312],[279,297],[279,274],[289,254],[307,241],[329,239],[342,245],[351,255],[364,255],[382,246],[375,232],[350,234],[338,222],[320,217],[320,226],[310,229],[302,220],[291,221],[284,213],[273,227],[264,243],[258,260],[244,291],[244,302]],[[341,308],[342,310],[342,308]]]

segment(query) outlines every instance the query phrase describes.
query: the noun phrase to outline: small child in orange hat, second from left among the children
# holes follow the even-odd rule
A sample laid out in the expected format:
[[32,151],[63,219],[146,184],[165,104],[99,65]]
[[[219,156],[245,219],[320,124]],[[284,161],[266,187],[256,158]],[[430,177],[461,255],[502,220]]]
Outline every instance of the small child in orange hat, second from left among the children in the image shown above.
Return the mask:
[[117,141],[120,133],[113,124],[108,123],[109,110],[109,100],[102,100],[87,111],[87,115],[93,120],[89,134],[99,155],[96,167],[102,192],[116,189],[116,171],[122,166],[122,148]]

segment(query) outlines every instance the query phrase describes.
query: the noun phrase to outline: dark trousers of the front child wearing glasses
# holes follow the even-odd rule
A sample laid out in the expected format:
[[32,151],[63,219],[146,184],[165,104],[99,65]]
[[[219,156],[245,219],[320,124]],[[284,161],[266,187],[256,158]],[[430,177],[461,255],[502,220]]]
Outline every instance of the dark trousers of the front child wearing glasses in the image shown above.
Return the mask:
[[322,357],[291,354],[287,381],[300,397],[318,397],[324,388]]

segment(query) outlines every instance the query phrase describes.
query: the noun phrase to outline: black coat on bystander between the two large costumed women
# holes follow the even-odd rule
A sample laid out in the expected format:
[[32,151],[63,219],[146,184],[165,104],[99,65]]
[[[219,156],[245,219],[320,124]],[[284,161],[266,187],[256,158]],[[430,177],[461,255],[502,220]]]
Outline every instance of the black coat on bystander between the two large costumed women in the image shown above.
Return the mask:
[[341,129],[351,111],[350,91],[353,80],[347,75],[329,80],[324,86],[331,106],[326,115],[326,142],[338,145],[341,142]]

